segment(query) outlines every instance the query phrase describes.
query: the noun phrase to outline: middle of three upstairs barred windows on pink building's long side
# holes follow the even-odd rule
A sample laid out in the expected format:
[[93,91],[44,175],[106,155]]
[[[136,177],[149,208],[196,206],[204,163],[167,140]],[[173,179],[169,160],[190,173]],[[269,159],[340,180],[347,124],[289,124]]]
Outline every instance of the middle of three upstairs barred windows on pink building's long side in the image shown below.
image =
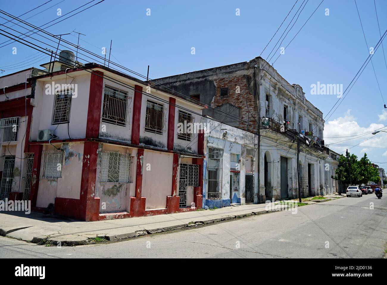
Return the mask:
[[145,131],[162,135],[166,131],[166,108],[163,104],[147,100]]

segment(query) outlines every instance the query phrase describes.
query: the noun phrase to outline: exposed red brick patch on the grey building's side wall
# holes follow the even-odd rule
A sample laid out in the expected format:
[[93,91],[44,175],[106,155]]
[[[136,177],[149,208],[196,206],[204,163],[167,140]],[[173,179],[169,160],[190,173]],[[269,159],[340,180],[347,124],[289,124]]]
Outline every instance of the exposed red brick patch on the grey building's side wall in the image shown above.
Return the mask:
[[[214,83],[216,85],[216,94],[212,99],[211,107],[216,108],[227,103],[239,107],[241,110],[241,122],[239,124],[239,128],[242,130],[256,132],[256,120],[258,120],[257,102],[255,101],[254,95],[247,90],[246,76],[240,75],[217,78],[214,80]],[[240,93],[236,93],[237,86],[240,88]],[[220,97],[220,90],[224,87],[228,87],[228,97]],[[250,87],[253,88],[253,83],[250,84]],[[233,110],[236,111],[236,108]],[[233,112],[232,114],[234,116],[238,116],[237,112]]]

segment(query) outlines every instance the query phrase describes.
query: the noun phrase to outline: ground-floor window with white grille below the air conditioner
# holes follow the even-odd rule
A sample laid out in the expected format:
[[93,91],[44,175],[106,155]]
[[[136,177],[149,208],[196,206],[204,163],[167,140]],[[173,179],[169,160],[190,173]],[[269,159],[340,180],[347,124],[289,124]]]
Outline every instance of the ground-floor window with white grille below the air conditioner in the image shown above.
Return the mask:
[[43,151],[42,152],[42,179],[57,179],[62,177],[63,152]]

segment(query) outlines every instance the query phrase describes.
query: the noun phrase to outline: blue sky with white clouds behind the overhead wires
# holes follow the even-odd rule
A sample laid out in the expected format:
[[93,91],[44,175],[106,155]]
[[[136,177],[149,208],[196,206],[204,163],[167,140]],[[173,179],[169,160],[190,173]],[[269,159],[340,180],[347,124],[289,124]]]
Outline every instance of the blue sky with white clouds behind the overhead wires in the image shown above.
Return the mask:
[[[47,1],[1,0],[1,9],[19,16]],[[63,15],[88,2],[87,0],[61,1],[52,0],[21,18],[26,19],[54,5],[27,20],[40,26],[57,18],[58,8],[62,9]],[[299,0],[296,3],[297,9],[301,2],[302,0]],[[101,48],[109,48],[110,40],[113,40],[112,60],[142,74],[146,74],[149,64],[150,77],[159,78],[253,59],[261,54],[294,3],[295,0],[198,0],[195,2],[105,0],[47,30],[54,34],[63,34],[75,29],[86,34],[81,36],[80,45],[99,54]],[[289,43],[319,3],[320,0],[308,1],[281,46]],[[368,46],[373,47],[380,38],[374,2],[357,0],[357,4]],[[380,30],[383,34],[387,29],[387,17],[385,17],[387,1],[376,0],[376,7]],[[325,16],[327,8],[329,16]],[[146,15],[146,9],[151,9],[151,16]],[[240,16],[235,15],[236,9],[240,9]],[[295,10],[291,12],[290,17],[293,17],[294,12]],[[290,19],[288,18],[284,25],[287,25]],[[1,18],[0,20],[5,22]],[[8,26],[9,24],[7,23]],[[281,27],[262,54],[265,59],[284,27],[286,26]],[[13,28],[22,30],[17,26]],[[74,35],[73,33],[65,36],[65,39],[76,43],[77,38]],[[5,40],[7,38],[0,36],[1,42]],[[17,47],[16,55],[12,54],[12,47]],[[195,47],[194,55],[191,54],[192,47]],[[387,40],[384,41],[384,48],[387,53]],[[33,54],[36,54],[35,50],[19,43],[0,48],[0,69],[5,69],[1,75],[17,71],[17,69],[10,70],[10,67],[7,69],[5,66],[26,60],[26,57],[28,59]],[[278,55],[279,50],[269,62],[274,61]],[[327,114],[337,100],[336,95],[311,95],[310,85],[320,81],[325,84],[343,84],[345,89],[367,56],[368,49],[354,1],[324,0],[295,40],[286,48],[285,54],[275,62],[274,68],[290,83],[301,85],[308,100]],[[33,65],[39,66],[47,61],[48,59],[42,58],[40,62]],[[26,68],[30,62],[25,63],[27,66],[21,64],[17,68]],[[387,103],[385,84],[387,68],[381,47],[373,57],[373,64]],[[340,107],[326,122],[325,142],[334,143],[355,138],[331,145],[332,149],[341,152],[346,147],[370,138],[372,135],[360,138],[356,136],[329,138],[329,136],[364,133],[387,125],[387,112],[384,112],[383,104],[370,63]],[[387,136],[385,135],[387,134],[378,134],[361,143],[361,147],[351,148],[350,152],[358,156],[366,152],[372,161],[387,162]],[[387,164],[380,164],[380,166],[387,166]]]

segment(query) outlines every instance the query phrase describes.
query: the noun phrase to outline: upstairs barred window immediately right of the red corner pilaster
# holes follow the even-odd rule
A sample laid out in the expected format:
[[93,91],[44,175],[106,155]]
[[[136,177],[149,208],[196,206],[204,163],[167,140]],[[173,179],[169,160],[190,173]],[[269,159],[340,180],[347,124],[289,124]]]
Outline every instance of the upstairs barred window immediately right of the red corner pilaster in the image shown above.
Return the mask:
[[[122,90],[105,86],[102,107],[102,121],[105,123],[126,126],[129,123],[132,97]],[[129,102],[128,102],[129,101]]]

